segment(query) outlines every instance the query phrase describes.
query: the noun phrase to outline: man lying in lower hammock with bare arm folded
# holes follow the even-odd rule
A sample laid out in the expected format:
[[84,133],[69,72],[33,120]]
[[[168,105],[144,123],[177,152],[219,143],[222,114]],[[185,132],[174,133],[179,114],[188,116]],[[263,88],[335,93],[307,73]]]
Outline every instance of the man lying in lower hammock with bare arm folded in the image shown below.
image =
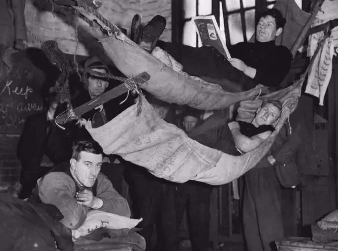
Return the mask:
[[251,123],[244,121],[229,123],[228,125],[238,150],[247,153],[266,140],[274,131],[272,124],[279,119],[281,110],[281,102],[266,100],[257,109]]

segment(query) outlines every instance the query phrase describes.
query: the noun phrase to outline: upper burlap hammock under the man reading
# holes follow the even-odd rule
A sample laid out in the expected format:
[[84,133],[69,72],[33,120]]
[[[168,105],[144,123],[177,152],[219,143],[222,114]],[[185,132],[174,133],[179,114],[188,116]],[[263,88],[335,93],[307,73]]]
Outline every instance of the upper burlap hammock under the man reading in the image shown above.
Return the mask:
[[156,47],[149,54],[122,33],[102,38],[100,43],[116,68],[125,76],[134,77],[147,72],[151,78],[140,87],[168,103],[214,110],[227,108],[260,93],[258,86],[245,92],[227,92],[218,84],[191,77],[182,72],[182,66],[167,52]]

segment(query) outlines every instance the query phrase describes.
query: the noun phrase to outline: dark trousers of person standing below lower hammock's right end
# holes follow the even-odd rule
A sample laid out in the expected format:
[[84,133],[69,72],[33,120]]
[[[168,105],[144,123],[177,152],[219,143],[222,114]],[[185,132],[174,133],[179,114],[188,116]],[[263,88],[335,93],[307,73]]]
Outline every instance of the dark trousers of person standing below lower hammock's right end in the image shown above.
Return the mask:
[[284,238],[281,186],[273,167],[254,168],[245,174],[244,235],[248,251],[277,251]]

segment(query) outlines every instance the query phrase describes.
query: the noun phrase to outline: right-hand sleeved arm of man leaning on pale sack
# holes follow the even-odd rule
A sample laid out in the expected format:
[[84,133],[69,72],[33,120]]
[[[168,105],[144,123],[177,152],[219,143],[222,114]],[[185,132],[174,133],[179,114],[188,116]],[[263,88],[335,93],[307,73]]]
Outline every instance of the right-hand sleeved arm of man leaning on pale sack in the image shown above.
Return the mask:
[[103,202],[102,207],[97,210],[130,217],[130,208],[128,202],[113,187],[108,178],[100,173],[97,176],[97,193],[96,197]]

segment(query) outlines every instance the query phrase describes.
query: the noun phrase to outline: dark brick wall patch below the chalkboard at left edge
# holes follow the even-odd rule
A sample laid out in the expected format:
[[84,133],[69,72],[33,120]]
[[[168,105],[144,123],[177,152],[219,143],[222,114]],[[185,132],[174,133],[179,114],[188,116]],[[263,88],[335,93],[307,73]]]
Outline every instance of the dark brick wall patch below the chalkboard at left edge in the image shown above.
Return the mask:
[[21,165],[16,158],[19,135],[0,134],[0,183],[19,181]]

